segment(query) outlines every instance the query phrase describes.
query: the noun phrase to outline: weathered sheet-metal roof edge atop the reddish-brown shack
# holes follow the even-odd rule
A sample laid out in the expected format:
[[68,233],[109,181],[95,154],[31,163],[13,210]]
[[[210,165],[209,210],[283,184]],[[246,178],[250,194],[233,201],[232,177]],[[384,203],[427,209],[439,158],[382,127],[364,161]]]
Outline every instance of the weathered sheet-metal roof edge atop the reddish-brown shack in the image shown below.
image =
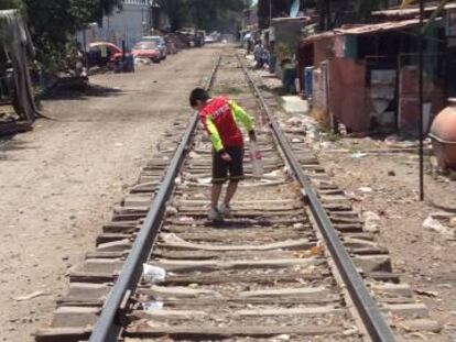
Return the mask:
[[383,22],[379,24],[368,24],[368,25],[345,25],[340,29],[333,31],[323,32],[304,38],[304,43],[312,43],[321,40],[326,40],[334,37],[336,35],[362,35],[362,34],[372,34],[387,31],[397,31],[403,30],[420,24],[419,19],[402,20],[402,21],[391,21]]

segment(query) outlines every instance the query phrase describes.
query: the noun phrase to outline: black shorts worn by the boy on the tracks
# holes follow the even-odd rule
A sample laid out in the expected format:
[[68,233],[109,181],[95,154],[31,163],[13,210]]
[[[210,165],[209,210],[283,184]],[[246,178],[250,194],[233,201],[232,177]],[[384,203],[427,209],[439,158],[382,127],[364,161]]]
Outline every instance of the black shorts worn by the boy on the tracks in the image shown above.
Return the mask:
[[228,180],[243,179],[243,147],[225,147],[231,156],[231,162],[225,162],[219,153],[213,151],[213,184],[221,184]]

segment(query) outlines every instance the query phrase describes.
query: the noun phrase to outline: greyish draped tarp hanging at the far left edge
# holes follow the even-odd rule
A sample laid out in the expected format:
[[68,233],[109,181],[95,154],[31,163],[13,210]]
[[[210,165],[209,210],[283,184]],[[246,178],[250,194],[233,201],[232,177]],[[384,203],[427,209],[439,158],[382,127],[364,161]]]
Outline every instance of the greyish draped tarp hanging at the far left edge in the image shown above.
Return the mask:
[[17,10],[0,11],[0,47],[12,62],[18,114],[32,122],[39,113],[28,64],[28,57],[33,56],[34,48],[29,30]]

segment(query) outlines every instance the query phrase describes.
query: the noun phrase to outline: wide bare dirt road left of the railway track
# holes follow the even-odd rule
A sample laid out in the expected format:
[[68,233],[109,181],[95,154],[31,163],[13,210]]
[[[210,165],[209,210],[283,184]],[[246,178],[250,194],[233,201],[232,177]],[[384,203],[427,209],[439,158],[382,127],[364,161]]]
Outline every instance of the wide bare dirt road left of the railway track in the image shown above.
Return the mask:
[[134,75],[93,77],[110,90],[45,101],[55,120],[0,141],[0,341],[32,341],[46,324],[66,269],[94,246],[158,136],[189,113],[188,91],[215,54],[191,49]]

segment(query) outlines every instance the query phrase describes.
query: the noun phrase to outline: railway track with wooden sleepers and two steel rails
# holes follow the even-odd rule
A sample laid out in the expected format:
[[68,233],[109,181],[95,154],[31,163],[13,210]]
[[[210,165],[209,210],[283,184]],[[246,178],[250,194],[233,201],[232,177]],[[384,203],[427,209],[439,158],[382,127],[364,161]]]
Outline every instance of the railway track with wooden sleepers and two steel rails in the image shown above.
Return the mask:
[[[210,143],[183,120],[73,269],[36,341],[447,341],[232,48],[206,81],[257,118],[265,175],[206,220]],[[272,108],[272,109],[271,109]],[[247,153],[248,155],[248,153]],[[142,276],[143,263],[165,271]]]

